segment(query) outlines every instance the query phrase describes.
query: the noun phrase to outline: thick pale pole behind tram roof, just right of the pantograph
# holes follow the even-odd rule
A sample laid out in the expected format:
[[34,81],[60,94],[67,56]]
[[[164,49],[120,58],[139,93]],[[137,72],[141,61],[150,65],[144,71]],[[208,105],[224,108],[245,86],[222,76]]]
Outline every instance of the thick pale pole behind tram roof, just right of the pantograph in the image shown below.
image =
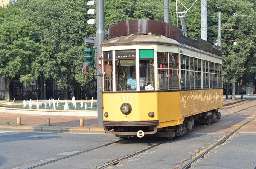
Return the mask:
[[201,39],[207,41],[207,0],[201,0]]

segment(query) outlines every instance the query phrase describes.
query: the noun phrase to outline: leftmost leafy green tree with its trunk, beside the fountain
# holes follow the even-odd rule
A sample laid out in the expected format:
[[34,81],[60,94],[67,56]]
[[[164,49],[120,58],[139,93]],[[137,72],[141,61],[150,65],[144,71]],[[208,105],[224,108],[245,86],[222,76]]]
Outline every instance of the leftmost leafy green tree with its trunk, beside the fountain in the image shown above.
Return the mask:
[[0,8],[0,30],[0,76],[5,80],[6,101],[10,101],[11,80],[30,73],[40,45],[34,25],[12,5]]

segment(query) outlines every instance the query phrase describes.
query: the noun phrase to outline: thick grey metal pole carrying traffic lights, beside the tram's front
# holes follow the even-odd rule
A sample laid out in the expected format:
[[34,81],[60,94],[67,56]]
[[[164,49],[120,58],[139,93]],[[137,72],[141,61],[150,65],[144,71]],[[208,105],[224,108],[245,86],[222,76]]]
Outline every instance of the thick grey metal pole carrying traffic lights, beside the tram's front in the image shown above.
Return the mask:
[[[98,60],[102,55],[101,43],[105,40],[105,31],[104,31],[104,0],[96,0],[96,74],[102,72],[100,69]],[[103,126],[103,110],[102,110],[102,77],[97,77],[97,101],[98,101],[98,126]]]

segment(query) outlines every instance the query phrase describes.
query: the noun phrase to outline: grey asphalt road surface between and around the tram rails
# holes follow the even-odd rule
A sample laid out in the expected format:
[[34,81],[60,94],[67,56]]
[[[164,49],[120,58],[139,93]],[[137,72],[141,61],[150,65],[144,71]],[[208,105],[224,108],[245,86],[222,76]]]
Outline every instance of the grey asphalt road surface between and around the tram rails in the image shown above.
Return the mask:
[[[207,146],[229,134],[256,116],[256,101],[221,109],[222,118],[177,137],[140,155],[123,160],[109,168],[175,169]],[[248,108],[250,107],[250,108]],[[238,112],[240,111],[240,112]],[[233,114],[235,113],[235,114]],[[48,160],[81,152],[118,140],[108,134],[7,132],[0,131],[0,168],[23,169]],[[137,137],[56,161],[38,169],[95,169],[125,157],[164,138]],[[256,120],[247,123],[235,135],[192,165],[196,169],[253,169],[256,165]]]

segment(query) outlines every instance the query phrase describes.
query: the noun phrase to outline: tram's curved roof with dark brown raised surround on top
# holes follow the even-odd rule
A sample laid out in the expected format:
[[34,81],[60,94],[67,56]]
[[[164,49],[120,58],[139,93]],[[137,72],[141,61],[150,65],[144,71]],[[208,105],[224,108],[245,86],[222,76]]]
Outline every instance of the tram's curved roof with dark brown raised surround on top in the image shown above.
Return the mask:
[[[147,35],[149,33],[155,34]],[[129,36],[124,36],[128,35]],[[160,36],[161,35],[161,36]],[[201,38],[191,39],[180,32],[180,28],[157,20],[126,20],[114,24],[108,29],[108,40],[102,46],[118,46],[132,44],[160,44],[180,46],[206,52],[218,57],[222,56],[221,47],[212,45]]]

